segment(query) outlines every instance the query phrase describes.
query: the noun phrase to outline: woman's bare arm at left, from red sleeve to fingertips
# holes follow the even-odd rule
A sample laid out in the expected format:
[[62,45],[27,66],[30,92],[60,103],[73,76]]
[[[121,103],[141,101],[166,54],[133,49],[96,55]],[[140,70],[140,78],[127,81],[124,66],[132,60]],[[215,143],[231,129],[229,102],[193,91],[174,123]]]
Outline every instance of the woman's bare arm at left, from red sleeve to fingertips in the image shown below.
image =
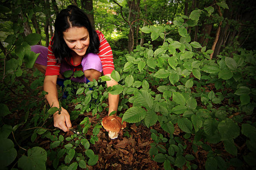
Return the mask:
[[[58,92],[56,88],[56,81],[58,75],[46,75],[44,78],[44,91],[48,92],[46,99],[51,107],[59,108]],[[67,132],[72,127],[69,113],[66,109],[61,107],[61,114],[54,113],[54,127],[60,128]]]

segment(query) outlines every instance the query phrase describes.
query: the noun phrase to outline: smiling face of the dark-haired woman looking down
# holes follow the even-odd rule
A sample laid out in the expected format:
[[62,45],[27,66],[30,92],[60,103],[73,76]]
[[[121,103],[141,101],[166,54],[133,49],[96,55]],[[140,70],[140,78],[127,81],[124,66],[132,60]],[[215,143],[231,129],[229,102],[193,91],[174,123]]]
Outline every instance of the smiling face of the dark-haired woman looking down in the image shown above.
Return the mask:
[[71,27],[63,32],[64,41],[67,46],[77,53],[77,55],[85,55],[90,44],[89,32],[84,27]]

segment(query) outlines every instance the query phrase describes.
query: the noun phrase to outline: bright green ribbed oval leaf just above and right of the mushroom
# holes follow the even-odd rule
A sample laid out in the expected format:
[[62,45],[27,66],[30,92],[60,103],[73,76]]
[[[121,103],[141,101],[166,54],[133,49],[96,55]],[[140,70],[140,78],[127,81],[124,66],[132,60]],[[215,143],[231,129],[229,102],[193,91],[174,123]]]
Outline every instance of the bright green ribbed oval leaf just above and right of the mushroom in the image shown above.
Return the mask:
[[146,110],[141,107],[130,107],[123,115],[123,121],[128,123],[140,122],[146,116]]

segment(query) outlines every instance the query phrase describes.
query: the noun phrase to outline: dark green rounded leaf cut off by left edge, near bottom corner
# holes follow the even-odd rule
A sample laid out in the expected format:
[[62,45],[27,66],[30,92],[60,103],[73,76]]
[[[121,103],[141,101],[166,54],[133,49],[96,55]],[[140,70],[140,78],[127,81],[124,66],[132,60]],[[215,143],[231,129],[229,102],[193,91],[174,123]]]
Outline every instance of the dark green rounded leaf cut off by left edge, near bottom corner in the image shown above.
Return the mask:
[[10,139],[0,138],[0,150],[0,165],[2,168],[10,165],[17,157],[17,151]]

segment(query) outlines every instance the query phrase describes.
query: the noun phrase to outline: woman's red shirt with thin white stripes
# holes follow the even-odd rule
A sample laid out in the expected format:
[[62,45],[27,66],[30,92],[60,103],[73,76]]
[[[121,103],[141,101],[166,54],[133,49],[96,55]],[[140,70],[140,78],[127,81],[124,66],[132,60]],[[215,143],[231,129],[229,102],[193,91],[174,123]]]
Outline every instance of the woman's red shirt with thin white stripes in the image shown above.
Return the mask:
[[[115,70],[114,62],[113,62],[113,54],[108,41],[102,34],[102,32],[96,30],[97,35],[100,40],[99,52],[97,55],[100,57],[102,63],[103,74],[111,74],[113,70]],[[52,40],[52,38],[51,38]],[[74,65],[75,66],[75,65]],[[76,65],[77,67],[81,67],[81,65]],[[45,75],[60,75],[60,63],[56,64],[56,57],[52,51],[51,41],[48,47],[48,55],[47,55],[47,67]],[[80,69],[77,69],[80,70]]]

